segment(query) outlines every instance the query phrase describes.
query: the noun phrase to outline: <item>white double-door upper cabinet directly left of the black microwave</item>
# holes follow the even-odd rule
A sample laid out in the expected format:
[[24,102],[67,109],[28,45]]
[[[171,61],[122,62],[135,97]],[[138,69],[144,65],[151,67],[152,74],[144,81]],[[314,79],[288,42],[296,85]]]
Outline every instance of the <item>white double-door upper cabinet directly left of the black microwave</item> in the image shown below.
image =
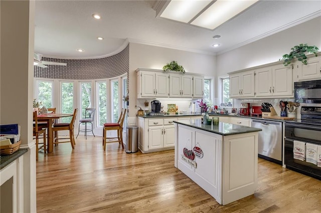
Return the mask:
[[278,64],[255,70],[255,96],[293,96],[292,67]]

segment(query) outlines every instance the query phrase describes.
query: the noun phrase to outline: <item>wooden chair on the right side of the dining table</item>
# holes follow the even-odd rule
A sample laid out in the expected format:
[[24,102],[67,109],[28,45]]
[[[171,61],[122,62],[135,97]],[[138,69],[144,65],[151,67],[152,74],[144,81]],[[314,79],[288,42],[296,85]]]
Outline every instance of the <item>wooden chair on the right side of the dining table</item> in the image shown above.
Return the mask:
[[[75,148],[75,136],[74,136],[74,124],[76,120],[76,114],[77,114],[78,108],[74,109],[74,113],[72,116],[72,119],[70,123],[54,123],[52,127],[53,135],[54,135],[54,144],[58,145],[58,143],[63,143],[63,142],[70,142],[71,147]],[[58,131],[61,130],[69,130],[69,137],[64,137],[64,138],[59,138]],[[59,141],[59,139],[69,139],[69,140],[64,140],[64,141]]]

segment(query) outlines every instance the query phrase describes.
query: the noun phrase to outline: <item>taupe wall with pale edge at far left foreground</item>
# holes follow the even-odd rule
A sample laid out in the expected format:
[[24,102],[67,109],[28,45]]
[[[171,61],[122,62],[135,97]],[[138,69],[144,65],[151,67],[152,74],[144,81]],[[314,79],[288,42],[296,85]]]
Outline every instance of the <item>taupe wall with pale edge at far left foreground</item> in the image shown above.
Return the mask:
[[[36,212],[36,147],[33,142],[33,55],[34,55],[34,0],[0,1],[1,8],[1,124],[21,126],[20,147],[24,154],[24,209]],[[14,15],[14,16],[13,16]],[[19,58],[19,60],[17,60]],[[4,203],[1,203],[4,204]],[[7,203],[8,204],[8,203]]]

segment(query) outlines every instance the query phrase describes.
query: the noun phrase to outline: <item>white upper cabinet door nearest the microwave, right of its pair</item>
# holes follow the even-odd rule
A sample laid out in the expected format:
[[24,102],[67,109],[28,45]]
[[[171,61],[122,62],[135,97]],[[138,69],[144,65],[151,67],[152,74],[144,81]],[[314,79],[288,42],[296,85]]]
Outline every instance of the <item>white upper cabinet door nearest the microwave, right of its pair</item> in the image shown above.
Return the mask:
[[293,96],[292,67],[283,64],[272,66],[273,96]]

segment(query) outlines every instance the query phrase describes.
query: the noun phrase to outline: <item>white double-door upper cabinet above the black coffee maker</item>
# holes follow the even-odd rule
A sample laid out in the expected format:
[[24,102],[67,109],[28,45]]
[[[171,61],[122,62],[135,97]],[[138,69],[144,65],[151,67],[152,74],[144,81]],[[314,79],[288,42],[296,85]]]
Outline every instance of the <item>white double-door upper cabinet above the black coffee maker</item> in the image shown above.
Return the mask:
[[168,97],[169,75],[165,72],[138,71],[137,98]]

